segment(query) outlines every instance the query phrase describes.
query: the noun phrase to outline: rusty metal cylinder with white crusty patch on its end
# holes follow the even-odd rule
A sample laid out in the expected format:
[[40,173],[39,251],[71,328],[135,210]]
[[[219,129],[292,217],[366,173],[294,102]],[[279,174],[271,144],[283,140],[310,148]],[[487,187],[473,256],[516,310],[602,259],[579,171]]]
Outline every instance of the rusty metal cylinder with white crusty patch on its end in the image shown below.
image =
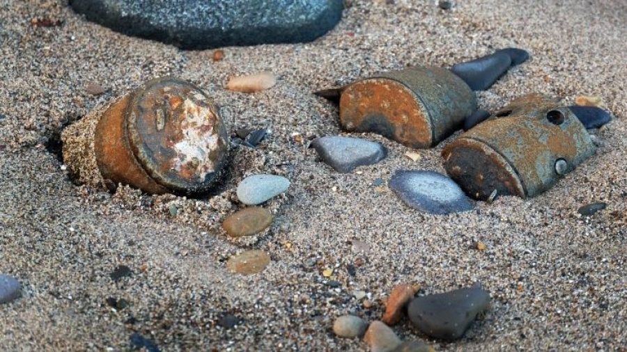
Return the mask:
[[207,191],[226,161],[226,128],[212,99],[190,83],[153,79],[104,111],[95,129],[109,186],[148,193]]

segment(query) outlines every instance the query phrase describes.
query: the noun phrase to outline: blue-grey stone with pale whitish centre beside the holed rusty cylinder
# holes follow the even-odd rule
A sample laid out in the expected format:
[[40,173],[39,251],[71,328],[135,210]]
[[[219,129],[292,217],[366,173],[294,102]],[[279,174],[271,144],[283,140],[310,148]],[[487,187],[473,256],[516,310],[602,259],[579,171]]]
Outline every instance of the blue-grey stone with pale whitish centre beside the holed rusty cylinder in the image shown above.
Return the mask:
[[452,179],[435,171],[397,170],[389,188],[407,205],[426,213],[449,214],[474,208]]

